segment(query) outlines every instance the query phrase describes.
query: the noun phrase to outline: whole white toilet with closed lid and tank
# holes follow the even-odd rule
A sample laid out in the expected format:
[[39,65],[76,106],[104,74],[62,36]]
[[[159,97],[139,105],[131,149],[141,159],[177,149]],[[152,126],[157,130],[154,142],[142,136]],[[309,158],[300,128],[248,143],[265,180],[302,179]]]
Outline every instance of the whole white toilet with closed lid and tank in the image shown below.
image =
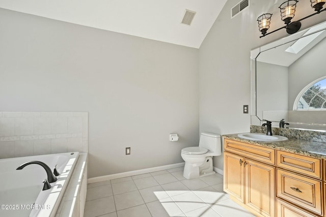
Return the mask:
[[221,155],[221,135],[201,133],[199,146],[181,150],[184,160],[183,176],[186,179],[198,178],[214,174],[213,156]]

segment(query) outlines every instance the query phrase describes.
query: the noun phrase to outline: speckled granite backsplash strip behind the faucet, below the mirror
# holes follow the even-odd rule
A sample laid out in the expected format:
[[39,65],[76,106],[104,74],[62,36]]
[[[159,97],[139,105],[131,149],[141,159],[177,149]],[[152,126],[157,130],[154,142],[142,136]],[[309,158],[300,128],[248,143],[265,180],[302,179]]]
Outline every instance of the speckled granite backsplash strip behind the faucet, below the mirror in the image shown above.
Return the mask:
[[[266,133],[266,127],[262,126],[250,126],[251,133]],[[315,142],[326,143],[325,131],[314,130],[301,130],[301,129],[287,129],[287,128],[271,128],[271,132],[275,135],[285,136],[289,139],[303,139]]]

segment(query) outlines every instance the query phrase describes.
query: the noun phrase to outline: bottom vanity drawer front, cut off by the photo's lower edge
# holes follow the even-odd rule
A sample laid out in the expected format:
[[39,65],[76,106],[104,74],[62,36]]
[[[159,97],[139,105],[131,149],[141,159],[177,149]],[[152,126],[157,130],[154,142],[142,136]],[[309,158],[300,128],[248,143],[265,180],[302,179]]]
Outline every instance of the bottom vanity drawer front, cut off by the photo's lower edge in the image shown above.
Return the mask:
[[276,199],[276,211],[278,217],[317,217],[280,199]]

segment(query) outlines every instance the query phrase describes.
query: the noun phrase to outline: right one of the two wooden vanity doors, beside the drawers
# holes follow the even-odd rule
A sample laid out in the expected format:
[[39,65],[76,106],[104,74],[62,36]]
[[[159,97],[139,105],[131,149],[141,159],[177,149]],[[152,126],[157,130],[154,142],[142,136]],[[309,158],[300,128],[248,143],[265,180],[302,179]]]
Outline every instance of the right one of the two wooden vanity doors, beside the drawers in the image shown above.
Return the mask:
[[246,159],[244,170],[246,205],[263,216],[275,216],[275,168]]

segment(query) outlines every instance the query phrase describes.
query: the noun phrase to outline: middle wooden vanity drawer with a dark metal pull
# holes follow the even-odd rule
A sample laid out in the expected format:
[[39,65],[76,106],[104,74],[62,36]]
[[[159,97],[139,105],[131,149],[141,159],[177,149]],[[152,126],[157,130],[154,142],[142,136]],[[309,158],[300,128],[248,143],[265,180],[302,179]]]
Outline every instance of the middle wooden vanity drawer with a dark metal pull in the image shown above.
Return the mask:
[[277,196],[323,214],[321,181],[277,169]]

